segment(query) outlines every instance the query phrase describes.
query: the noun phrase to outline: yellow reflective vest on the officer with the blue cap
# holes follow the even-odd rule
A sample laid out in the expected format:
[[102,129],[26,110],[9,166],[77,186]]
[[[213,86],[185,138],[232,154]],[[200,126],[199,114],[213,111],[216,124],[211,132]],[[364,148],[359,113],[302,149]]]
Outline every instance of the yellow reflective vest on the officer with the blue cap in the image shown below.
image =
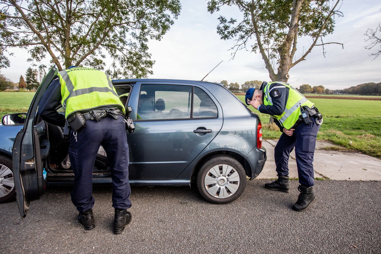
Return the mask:
[[[280,86],[275,86],[269,90],[270,86],[274,83],[280,84]],[[309,101],[306,97],[304,97],[303,94],[301,94],[298,90],[290,86],[290,84],[283,82],[271,82],[263,88],[264,105],[272,105],[270,92],[275,88],[283,87],[289,89],[285,111],[282,113],[282,115],[274,115],[272,117],[275,117],[284,128],[290,129],[293,125],[295,125],[296,121],[299,119],[300,107],[312,107],[314,104],[311,101]]]

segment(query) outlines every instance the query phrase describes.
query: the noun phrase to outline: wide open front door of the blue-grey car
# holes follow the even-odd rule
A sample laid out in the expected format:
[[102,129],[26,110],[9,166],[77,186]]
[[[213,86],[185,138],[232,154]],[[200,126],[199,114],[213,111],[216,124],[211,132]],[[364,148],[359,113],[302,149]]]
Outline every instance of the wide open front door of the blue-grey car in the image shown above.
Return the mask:
[[45,193],[47,173],[46,158],[49,141],[46,139],[45,122],[36,123],[38,102],[46,87],[56,76],[58,69],[53,66],[38,87],[30,104],[24,128],[17,134],[13,144],[13,175],[16,186],[16,200],[22,218],[29,210],[29,202],[37,200]]

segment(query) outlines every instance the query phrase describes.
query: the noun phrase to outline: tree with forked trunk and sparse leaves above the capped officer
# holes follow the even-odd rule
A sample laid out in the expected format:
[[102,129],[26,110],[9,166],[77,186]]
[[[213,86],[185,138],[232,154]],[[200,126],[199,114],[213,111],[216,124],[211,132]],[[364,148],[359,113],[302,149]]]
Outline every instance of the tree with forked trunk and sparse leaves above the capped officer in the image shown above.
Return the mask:
[[[315,46],[324,47],[337,42],[323,42],[323,37],[333,33],[335,16],[342,0],[210,0],[208,11],[214,13],[221,6],[236,5],[243,14],[240,21],[220,16],[217,32],[221,39],[234,39],[233,58],[237,50],[247,49],[251,38],[255,43],[251,51],[259,51],[272,81],[287,82],[289,70],[301,61]],[[296,58],[298,38],[310,37],[312,43]],[[320,44],[318,41],[320,40]],[[323,48],[323,54],[325,51]],[[275,73],[277,65],[277,73]]]

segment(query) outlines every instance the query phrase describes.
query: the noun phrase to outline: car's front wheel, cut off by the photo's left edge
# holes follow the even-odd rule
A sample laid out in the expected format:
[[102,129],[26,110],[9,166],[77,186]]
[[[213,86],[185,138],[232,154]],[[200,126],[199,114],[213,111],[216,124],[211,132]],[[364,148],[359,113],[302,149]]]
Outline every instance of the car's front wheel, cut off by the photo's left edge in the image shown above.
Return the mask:
[[0,155],[0,203],[14,200],[15,195],[12,160]]

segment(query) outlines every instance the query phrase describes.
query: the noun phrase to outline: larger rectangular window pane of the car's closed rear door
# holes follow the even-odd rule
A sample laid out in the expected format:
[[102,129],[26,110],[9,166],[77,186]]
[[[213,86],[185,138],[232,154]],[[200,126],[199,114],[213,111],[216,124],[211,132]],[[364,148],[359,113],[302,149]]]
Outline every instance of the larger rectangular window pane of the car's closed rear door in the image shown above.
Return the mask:
[[142,85],[137,119],[189,119],[191,98],[192,86]]

